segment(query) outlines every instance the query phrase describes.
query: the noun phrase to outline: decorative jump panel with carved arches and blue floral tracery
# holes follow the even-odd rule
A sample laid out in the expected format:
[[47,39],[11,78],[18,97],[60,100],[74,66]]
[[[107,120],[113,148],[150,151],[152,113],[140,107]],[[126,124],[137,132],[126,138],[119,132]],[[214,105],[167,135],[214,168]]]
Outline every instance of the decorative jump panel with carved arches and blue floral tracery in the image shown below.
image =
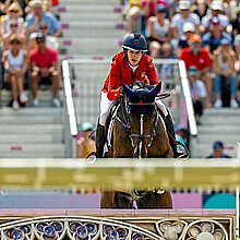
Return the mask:
[[1,240],[233,240],[236,235],[233,215],[20,218],[0,218]]

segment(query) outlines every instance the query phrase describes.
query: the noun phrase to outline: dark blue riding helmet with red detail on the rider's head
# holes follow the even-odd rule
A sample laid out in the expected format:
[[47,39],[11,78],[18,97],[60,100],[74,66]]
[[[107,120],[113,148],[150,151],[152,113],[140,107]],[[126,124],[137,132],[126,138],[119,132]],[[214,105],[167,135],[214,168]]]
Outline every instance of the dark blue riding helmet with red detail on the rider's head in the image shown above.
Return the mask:
[[136,51],[147,51],[146,39],[142,34],[131,33],[125,37],[122,44],[122,48],[132,49]]

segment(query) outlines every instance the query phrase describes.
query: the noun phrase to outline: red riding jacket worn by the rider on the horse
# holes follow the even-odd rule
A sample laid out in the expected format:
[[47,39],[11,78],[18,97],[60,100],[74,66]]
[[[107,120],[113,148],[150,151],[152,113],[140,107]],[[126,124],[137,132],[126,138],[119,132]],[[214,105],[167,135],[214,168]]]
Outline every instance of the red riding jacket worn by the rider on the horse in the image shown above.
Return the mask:
[[131,85],[135,81],[145,84],[157,85],[158,79],[153,59],[143,55],[135,72],[128,64],[124,51],[120,51],[112,58],[109,75],[104,82],[101,92],[108,93],[108,99],[115,100],[120,97],[119,89],[122,83]]

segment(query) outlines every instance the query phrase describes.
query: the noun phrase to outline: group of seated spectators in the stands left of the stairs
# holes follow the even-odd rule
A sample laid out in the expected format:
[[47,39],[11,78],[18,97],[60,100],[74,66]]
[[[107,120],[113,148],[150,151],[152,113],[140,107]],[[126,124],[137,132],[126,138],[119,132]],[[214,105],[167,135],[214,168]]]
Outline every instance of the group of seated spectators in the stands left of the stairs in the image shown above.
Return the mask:
[[11,88],[14,110],[28,101],[27,84],[34,107],[39,106],[39,85],[51,85],[52,105],[61,106],[58,37],[62,28],[51,7],[48,0],[0,1],[1,85]]

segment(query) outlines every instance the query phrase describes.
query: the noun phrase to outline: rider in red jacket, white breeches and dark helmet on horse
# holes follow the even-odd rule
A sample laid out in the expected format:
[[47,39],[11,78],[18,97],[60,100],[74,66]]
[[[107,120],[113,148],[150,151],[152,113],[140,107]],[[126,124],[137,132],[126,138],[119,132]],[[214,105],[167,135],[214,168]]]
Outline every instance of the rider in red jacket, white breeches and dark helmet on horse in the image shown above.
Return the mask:
[[[146,39],[142,34],[130,33],[127,35],[123,44],[122,51],[118,52],[111,62],[111,68],[108,76],[104,82],[100,98],[100,117],[97,123],[96,132],[96,147],[99,148],[101,142],[105,140],[105,122],[111,105],[119,101],[123,95],[122,83],[131,85],[136,81],[144,82],[145,84],[155,87],[158,85],[158,77],[153,59],[146,55]],[[166,117],[167,132],[175,137],[175,129],[171,116],[161,100],[155,101],[163,110]],[[104,146],[99,148],[96,157],[103,157]],[[175,157],[178,154],[176,147],[172,148]]]

